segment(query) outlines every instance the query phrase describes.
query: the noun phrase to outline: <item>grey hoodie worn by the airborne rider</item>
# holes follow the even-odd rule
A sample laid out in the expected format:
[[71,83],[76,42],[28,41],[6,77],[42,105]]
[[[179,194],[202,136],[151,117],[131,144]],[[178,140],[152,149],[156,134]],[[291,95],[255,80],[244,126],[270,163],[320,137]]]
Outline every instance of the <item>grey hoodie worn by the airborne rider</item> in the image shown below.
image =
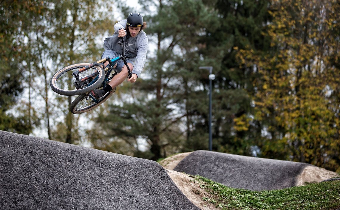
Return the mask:
[[[115,33],[111,37],[107,37],[104,40],[104,50],[113,50],[118,54],[122,54],[121,40],[118,37],[118,31],[120,28],[125,30],[126,20],[122,20],[114,25]],[[125,55],[130,60],[134,61],[133,74],[139,76],[141,73],[148,50],[148,37],[145,32],[140,31],[136,37],[129,35],[125,36]]]

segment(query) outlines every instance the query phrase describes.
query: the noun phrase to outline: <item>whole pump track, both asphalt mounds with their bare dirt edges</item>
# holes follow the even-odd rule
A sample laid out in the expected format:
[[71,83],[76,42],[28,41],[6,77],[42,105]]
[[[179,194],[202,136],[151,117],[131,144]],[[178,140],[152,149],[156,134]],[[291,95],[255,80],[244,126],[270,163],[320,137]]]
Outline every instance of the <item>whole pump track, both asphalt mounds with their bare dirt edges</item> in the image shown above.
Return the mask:
[[209,195],[199,183],[177,171],[253,190],[337,176],[309,164],[202,150],[166,158],[161,165],[0,131],[0,209],[218,209],[203,201]]

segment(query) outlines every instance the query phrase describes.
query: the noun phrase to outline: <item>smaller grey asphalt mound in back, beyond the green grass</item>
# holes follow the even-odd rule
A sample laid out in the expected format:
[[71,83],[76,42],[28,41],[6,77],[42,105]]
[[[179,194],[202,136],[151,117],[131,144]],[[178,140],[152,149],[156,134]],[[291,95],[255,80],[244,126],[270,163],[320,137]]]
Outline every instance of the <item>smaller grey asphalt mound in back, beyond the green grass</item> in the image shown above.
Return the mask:
[[[306,168],[321,169],[305,163],[198,150],[187,155],[173,170],[201,175],[232,188],[260,191],[298,186]],[[328,177],[337,175],[326,173]]]

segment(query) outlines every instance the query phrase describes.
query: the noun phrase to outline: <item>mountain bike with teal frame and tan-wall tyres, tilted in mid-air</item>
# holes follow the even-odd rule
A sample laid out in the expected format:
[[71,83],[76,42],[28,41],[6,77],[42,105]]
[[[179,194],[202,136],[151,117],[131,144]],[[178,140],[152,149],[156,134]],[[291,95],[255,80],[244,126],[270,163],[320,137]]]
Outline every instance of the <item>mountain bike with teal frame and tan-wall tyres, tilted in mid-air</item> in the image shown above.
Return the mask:
[[[104,101],[106,101],[116,91],[116,88],[107,92],[98,100],[90,94],[94,89],[105,88],[107,83],[117,75],[114,65],[119,59],[122,59],[125,66],[128,68],[128,77],[131,78],[132,73],[129,65],[126,62],[125,56],[125,41],[122,40],[122,55],[110,59],[109,57],[98,60],[94,63],[77,63],[66,66],[65,68],[57,71],[51,78],[50,86],[52,90],[60,95],[73,96],[79,95],[75,98],[70,106],[70,112],[73,114],[81,114],[88,112]],[[108,61],[109,64],[104,66]],[[111,75],[111,73],[114,73]]]

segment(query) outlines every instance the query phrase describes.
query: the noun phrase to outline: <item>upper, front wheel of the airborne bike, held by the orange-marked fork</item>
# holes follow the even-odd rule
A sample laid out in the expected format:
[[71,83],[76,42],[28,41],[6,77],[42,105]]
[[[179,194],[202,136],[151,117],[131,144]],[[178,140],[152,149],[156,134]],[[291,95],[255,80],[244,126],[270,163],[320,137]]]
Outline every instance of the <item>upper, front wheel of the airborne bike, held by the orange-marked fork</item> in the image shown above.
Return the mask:
[[78,75],[72,75],[73,72],[89,64],[77,63],[57,71],[50,81],[52,90],[60,95],[74,96],[88,93],[99,87],[105,79],[105,72],[101,66],[93,66]]

